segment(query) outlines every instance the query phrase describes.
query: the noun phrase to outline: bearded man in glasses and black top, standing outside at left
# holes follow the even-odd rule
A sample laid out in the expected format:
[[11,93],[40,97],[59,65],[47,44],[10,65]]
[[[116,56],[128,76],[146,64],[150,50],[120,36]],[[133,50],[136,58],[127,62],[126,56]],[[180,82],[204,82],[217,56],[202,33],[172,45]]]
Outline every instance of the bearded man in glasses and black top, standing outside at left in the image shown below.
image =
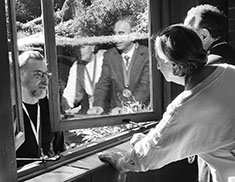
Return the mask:
[[19,56],[25,141],[16,151],[17,167],[32,162],[30,158],[54,156],[65,149],[63,133],[51,130],[47,87],[51,76],[38,51]]

